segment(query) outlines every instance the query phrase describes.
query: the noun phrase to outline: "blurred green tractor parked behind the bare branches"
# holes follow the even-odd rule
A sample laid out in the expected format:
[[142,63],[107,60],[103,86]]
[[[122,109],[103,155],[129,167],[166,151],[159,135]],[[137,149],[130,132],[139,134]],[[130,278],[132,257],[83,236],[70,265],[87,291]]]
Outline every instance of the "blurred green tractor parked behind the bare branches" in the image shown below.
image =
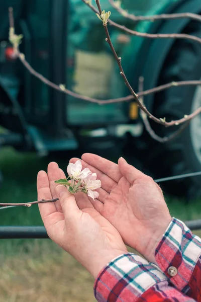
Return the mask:
[[[95,2],[92,4],[95,5]],[[111,8],[102,8],[111,19],[147,33],[188,33],[201,37],[201,24],[187,18],[133,23]],[[122,0],[135,15],[201,13],[200,0]],[[201,118],[197,116],[180,136],[158,143],[144,130],[135,103],[99,106],[55,91],[34,78],[15,60],[8,40],[8,8],[13,7],[20,46],[31,66],[56,84],[81,95],[99,99],[129,94],[120,77],[105,32],[95,14],[81,0],[0,0],[0,146],[36,150],[40,155],[78,147],[97,150],[124,141],[133,158],[141,158],[155,177],[201,171]],[[189,40],[144,39],[109,27],[114,46],[122,57],[128,80],[138,91],[172,81],[201,78],[201,47]],[[144,99],[157,117],[174,120],[201,105],[201,88],[174,87]],[[152,123],[160,136],[175,128]],[[120,143],[120,144],[121,144]],[[86,147],[87,146],[87,147]],[[196,177],[177,183],[182,192],[200,186]]]

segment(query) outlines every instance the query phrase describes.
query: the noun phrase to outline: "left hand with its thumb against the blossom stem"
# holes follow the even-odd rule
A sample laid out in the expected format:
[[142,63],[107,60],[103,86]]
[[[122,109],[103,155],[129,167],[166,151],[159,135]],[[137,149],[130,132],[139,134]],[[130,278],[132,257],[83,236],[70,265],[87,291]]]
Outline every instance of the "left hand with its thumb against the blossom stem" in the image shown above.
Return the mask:
[[[119,255],[127,253],[123,240],[114,226],[82,197],[84,207],[77,206],[75,196],[67,188],[55,184],[65,178],[56,163],[50,163],[48,174],[40,171],[37,177],[38,200],[59,197],[55,203],[41,203],[39,209],[48,236],[76,258],[95,278],[99,271]],[[88,201],[88,202],[87,202]]]

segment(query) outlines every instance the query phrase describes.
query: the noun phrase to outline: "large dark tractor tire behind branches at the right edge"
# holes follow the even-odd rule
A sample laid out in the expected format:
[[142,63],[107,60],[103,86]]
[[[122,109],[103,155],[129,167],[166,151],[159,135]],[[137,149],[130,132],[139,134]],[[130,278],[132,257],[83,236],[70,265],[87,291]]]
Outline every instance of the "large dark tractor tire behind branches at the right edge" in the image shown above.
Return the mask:
[[[201,38],[201,25],[190,22],[185,33]],[[201,80],[201,45],[177,40],[163,65],[158,85],[172,81]],[[155,95],[153,114],[166,121],[176,120],[201,106],[201,87],[173,87]],[[178,126],[163,127],[151,122],[161,137],[169,136]],[[146,135],[147,137],[147,135]],[[156,178],[201,171],[201,115],[196,116],[183,132],[166,143],[148,138],[146,166]],[[195,199],[201,196],[201,176],[167,182],[171,194]]]

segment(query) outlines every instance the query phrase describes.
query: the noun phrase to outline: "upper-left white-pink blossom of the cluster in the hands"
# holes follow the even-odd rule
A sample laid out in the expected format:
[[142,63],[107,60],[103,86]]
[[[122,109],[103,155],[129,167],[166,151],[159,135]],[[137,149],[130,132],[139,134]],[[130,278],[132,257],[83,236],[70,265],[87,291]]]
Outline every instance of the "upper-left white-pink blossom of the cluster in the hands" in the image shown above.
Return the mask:
[[82,164],[80,161],[76,161],[75,164],[69,163],[67,167],[67,173],[70,178],[84,180],[91,174],[88,168],[82,170]]

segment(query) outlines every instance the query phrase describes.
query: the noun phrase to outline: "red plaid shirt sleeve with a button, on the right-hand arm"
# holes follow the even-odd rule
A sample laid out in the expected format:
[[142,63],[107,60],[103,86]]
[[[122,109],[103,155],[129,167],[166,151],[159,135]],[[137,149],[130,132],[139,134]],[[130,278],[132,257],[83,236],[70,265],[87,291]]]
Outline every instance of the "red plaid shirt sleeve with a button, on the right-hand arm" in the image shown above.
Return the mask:
[[[155,252],[159,268],[182,293],[201,301],[201,239],[172,218]],[[170,276],[170,267],[176,274]]]

